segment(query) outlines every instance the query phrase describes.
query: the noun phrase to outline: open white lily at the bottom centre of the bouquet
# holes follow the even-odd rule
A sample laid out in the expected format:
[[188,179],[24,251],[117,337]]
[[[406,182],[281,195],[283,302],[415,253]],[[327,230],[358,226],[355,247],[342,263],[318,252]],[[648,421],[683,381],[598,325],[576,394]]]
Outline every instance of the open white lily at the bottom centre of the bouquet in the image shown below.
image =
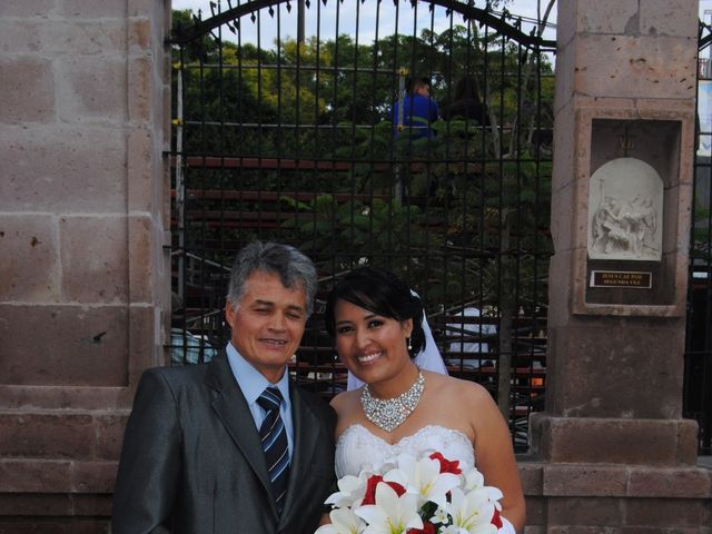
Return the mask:
[[354,511],[368,524],[364,534],[402,534],[408,528],[423,528],[416,495],[404,493],[398,497],[395,490],[382,482],[376,486],[375,502]]

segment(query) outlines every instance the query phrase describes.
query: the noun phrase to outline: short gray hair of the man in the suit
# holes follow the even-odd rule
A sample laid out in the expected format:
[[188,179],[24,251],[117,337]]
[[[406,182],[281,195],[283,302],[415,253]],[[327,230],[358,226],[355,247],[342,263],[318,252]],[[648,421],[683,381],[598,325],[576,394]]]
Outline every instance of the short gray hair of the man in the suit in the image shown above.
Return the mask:
[[307,315],[314,310],[317,289],[316,268],[309,258],[289,245],[270,241],[254,241],[245,246],[235,257],[230,273],[227,299],[239,305],[245,294],[245,284],[253,273],[271,273],[279,276],[288,289],[304,288],[307,297]]

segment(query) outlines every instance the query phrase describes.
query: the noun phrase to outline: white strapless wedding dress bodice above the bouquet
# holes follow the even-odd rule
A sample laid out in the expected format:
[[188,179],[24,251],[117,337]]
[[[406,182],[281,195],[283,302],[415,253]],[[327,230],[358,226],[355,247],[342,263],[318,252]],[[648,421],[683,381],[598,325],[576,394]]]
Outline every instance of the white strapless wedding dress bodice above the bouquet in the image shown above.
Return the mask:
[[392,445],[363,425],[350,425],[336,442],[336,476],[358,476],[363,469],[378,471],[403,453],[417,457],[433,452],[439,452],[449,461],[458,459],[463,471],[475,466],[472,443],[459,431],[427,425]]

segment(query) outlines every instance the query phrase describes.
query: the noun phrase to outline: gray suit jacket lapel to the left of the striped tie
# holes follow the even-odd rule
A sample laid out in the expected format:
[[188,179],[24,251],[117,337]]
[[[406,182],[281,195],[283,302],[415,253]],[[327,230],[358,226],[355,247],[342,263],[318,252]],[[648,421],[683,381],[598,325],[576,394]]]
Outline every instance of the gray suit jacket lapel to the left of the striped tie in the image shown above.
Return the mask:
[[[269,481],[267,463],[265,462],[265,453],[259,442],[259,435],[253,429],[253,414],[235,380],[225,353],[212,359],[205,382],[215,389],[212,409],[215,409],[248,465],[259,478],[267,495],[271,496],[271,482]],[[276,515],[277,505],[275,500],[268,498],[268,501]]]

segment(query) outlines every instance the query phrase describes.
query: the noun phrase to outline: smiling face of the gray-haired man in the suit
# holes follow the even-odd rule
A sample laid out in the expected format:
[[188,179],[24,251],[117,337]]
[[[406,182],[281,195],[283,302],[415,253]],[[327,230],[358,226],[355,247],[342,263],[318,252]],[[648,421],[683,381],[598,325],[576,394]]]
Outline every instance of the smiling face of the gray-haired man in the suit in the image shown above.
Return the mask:
[[301,285],[288,289],[278,275],[253,273],[245,294],[234,306],[225,306],[238,353],[273,384],[296,352],[307,322],[307,297]]

